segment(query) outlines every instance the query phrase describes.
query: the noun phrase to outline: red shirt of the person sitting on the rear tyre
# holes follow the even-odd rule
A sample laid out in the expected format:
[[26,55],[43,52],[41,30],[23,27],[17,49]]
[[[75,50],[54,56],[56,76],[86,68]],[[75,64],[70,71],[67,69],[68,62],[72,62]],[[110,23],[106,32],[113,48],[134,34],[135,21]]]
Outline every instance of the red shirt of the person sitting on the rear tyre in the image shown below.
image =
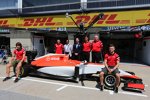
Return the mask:
[[[15,50],[13,51],[13,53],[14,53],[15,56],[16,56],[16,60],[22,60],[23,55],[25,54],[25,49],[24,49],[24,48],[22,48],[21,50],[15,49]],[[26,58],[24,59],[24,61],[25,61],[25,60],[26,60]]]

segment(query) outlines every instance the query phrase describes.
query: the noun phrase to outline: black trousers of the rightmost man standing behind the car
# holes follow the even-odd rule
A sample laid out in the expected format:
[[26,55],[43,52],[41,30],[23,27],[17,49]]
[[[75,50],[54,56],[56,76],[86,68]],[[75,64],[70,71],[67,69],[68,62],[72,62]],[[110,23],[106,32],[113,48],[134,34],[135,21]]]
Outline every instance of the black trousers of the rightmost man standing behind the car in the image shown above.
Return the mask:
[[93,63],[100,63],[101,60],[102,60],[101,52],[92,52]]

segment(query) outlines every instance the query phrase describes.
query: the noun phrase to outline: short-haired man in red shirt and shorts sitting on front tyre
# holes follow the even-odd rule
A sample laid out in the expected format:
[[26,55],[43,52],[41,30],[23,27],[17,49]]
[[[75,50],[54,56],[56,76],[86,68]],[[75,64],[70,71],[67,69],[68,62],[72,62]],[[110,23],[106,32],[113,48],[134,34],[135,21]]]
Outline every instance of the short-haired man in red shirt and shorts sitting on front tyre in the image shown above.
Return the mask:
[[119,62],[120,58],[117,53],[115,53],[115,46],[113,44],[110,44],[109,46],[109,53],[105,54],[104,58],[104,65],[105,67],[100,72],[100,89],[103,91],[103,80],[104,80],[104,74],[114,74],[116,76],[116,87],[114,88],[114,92],[118,93],[118,87],[120,83],[120,74],[119,74]]

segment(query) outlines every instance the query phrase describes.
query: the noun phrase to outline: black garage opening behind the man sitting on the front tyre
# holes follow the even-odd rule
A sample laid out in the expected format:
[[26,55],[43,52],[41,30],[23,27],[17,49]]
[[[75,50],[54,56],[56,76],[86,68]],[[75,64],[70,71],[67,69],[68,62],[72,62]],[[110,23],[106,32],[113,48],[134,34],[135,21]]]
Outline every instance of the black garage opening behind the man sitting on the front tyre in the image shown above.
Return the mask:
[[108,45],[114,44],[116,52],[120,55],[121,61],[136,61],[136,42],[141,39],[135,38],[137,32],[105,32],[100,33],[100,39],[103,41],[103,53],[107,52]]

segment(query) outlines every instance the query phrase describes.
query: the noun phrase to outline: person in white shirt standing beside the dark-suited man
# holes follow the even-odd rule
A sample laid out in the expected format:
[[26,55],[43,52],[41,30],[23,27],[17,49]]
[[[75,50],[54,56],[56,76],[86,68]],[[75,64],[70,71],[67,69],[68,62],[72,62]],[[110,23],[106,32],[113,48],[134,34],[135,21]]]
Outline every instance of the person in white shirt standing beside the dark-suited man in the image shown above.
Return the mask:
[[64,45],[64,54],[69,55],[69,58],[72,57],[72,45],[69,44],[69,40],[66,40],[66,44]]

